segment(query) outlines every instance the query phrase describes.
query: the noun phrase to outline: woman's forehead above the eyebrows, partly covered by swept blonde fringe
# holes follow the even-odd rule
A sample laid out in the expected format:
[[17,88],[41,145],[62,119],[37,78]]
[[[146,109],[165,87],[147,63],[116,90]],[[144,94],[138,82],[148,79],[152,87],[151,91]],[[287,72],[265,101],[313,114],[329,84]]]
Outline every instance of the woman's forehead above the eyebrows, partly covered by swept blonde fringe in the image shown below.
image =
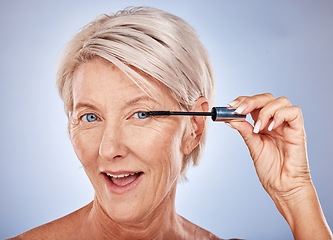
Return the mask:
[[[151,86],[145,86],[159,102],[174,101],[163,84],[145,79]],[[135,80],[135,79],[134,79]],[[146,95],[137,84],[115,65],[104,59],[94,59],[81,64],[73,75],[73,104],[78,101],[114,102],[130,100]]]

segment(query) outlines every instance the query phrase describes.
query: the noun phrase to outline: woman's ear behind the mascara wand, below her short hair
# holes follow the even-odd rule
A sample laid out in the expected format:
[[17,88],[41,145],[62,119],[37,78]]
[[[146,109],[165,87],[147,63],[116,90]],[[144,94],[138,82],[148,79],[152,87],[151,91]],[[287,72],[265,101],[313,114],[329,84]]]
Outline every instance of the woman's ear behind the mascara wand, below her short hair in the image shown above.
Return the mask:
[[[208,112],[209,104],[205,97],[200,97],[195,102],[192,112]],[[190,122],[187,126],[187,131],[184,136],[183,153],[190,154],[196,146],[198,146],[202,133],[205,129],[206,117],[191,116]]]

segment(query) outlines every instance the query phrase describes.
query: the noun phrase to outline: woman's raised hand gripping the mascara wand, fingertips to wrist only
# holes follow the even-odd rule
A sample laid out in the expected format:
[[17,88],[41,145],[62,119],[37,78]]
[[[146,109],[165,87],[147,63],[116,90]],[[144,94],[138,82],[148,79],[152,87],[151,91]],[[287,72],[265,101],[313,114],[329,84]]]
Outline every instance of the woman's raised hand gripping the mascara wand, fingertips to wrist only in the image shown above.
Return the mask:
[[230,125],[244,138],[265,190],[288,200],[311,184],[301,110],[271,94],[238,97],[233,103],[237,113],[251,113],[255,122],[254,128],[248,122]]

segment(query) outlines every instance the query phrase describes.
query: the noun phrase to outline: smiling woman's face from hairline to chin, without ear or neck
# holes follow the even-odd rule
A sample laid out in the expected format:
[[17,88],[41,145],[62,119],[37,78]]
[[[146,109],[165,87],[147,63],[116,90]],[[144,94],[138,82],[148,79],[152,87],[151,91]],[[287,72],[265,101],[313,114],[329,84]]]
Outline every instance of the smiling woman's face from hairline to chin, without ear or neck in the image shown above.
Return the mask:
[[96,199],[120,222],[165,203],[185,154],[184,118],[140,118],[144,111],[179,110],[165,87],[151,84],[157,100],[102,59],[83,63],[73,78],[71,141]]

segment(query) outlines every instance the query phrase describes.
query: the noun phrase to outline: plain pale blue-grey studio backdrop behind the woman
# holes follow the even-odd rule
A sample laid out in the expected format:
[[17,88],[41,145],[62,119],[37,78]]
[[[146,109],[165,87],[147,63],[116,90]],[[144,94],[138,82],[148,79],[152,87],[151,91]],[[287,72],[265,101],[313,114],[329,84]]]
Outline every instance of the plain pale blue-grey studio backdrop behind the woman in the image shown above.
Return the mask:
[[[192,25],[210,54],[216,105],[271,92],[302,108],[311,174],[333,226],[333,1],[1,1],[0,238],[93,198],[55,89],[59,52],[101,13],[153,6]],[[178,186],[177,211],[223,238],[292,239],[241,137],[211,123],[205,155]]]

